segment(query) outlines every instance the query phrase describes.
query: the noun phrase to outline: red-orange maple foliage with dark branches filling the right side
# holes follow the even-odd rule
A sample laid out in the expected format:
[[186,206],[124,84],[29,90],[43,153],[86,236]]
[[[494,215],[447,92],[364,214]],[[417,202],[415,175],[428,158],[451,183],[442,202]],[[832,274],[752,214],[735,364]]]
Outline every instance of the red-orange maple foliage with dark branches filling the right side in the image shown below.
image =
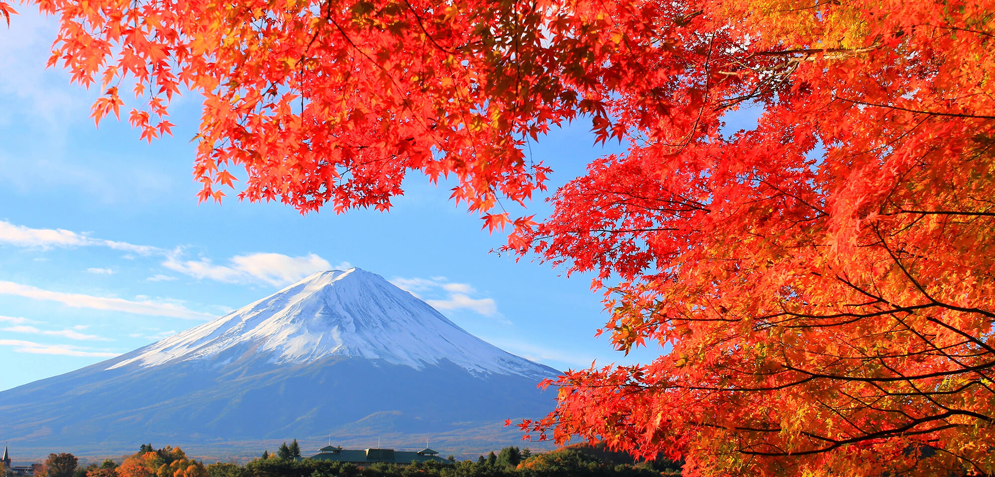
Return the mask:
[[[666,354],[567,373],[522,428],[691,474],[991,475],[995,4],[715,2],[695,21],[701,55],[679,45],[692,65],[661,87],[699,112],[647,125],[620,91],[629,151],[516,233],[595,287],[621,277],[605,330]],[[737,102],[758,125],[723,135]]]

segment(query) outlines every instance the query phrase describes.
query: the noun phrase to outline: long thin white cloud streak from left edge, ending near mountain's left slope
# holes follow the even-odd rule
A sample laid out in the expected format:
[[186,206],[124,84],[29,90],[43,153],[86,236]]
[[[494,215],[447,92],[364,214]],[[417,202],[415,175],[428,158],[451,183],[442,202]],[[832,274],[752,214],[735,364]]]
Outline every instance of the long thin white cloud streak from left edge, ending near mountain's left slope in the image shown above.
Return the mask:
[[131,301],[123,298],[93,296],[83,293],[65,293],[44,290],[12,281],[0,281],[0,294],[23,296],[35,300],[55,301],[74,308],[92,308],[95,310],[122,311],[138,315],[169,316],[195,320],[214,318],[214,315],[189,310],[176,302],[156,300]]

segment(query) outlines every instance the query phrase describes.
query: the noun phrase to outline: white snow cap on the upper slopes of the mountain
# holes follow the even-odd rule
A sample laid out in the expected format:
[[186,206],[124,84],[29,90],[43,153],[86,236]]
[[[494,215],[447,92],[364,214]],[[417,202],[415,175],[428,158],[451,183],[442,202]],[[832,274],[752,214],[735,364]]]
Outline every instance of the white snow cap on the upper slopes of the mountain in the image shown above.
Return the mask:
[[[555,371],[506,353],[382,276],[359,268],[314,273],[227,315],[136,350],[107,370],[262,355],[304,364],[341,356],[416,370],[449,360],[475,375],[544,379]],[[217,361],[217,360],[215,360]]]

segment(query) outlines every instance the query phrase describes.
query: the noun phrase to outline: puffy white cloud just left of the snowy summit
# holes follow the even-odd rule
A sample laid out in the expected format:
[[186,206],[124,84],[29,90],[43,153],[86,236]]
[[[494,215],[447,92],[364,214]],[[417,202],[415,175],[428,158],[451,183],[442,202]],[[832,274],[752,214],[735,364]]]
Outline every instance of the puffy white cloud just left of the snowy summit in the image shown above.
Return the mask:
[[314,253],[289,256],[283,253],[250,253],[236,255],[227,264],[215,264],[208,258],[179,260],[169,257],[162,266],[195,278],[208,278],[227,283],[263,282],[286,285],[315,271],[331,268],[328,260]]

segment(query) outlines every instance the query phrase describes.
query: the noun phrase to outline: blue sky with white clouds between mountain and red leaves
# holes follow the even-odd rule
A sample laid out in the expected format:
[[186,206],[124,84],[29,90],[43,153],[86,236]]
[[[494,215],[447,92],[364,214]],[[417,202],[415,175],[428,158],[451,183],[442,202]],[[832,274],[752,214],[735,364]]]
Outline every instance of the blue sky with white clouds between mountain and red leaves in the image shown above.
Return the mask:
[[[146,144],[90,119],[96,90],[44,68],[56,26],[26,7],[0,27],[0,390],[75,370],[202,323],[306,274],[347,264],[428,300],[471,333],[557,369],[633,363],[595,339],[590,278],[490,250],[503,235],[418,175],[388,214],[301,217],[279,204],[198,205],[199,96],[174,101],[174,137]],[[533,144],[559,185],[611,146],[586,121]],[[541,202],[532,209],[542,217]]]

